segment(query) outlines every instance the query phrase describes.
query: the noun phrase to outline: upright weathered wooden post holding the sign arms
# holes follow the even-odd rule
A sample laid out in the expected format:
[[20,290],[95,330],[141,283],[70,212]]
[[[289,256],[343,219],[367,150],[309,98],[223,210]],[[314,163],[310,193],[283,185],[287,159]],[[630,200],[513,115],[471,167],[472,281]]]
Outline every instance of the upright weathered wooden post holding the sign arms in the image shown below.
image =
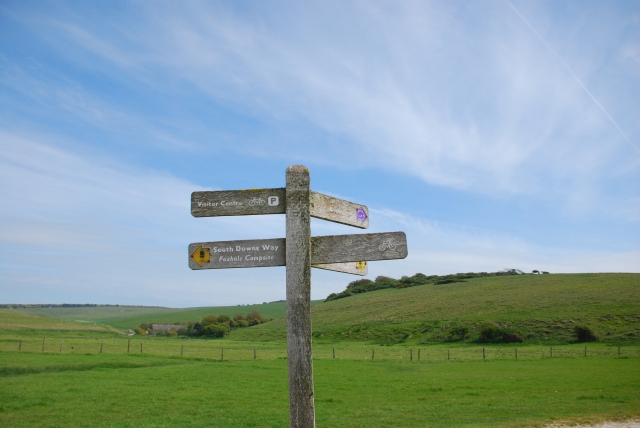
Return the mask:
[[309,170],[287,168],[287,363],[289,424],[315,427],[311,355],[311,219]]

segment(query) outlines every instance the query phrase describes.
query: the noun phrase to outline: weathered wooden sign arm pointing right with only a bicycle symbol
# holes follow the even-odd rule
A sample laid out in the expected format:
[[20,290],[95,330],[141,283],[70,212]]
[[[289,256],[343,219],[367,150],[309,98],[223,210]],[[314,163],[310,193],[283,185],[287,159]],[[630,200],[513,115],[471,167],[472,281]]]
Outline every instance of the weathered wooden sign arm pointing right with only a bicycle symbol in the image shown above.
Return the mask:
[[393,260],[407,257],[404,232],[316,236],[311,240],[314,264]]

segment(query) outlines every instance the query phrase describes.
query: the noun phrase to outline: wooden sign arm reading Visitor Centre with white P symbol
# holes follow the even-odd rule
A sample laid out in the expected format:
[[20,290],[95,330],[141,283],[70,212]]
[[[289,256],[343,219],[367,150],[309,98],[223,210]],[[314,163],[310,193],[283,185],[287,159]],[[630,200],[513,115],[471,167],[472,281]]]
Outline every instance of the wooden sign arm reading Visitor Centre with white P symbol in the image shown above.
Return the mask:
[[191,215],[194,217],[284,214],[285,210],[283,188],[220,190],[191,194]]

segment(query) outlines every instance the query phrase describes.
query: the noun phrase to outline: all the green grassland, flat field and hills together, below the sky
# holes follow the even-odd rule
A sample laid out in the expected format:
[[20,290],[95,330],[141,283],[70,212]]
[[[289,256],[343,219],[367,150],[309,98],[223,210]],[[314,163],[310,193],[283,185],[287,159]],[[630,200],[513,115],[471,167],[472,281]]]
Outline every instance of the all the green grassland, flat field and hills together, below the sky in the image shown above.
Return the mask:
[[[314,302],[317,425],[542,427],[638,417],[639,279],[478,278]],[[288,424],[283,303],[126,308],[0,310],[0,426]],[[224,339],[123,333],[254,308],[276,319]],[[528,336],[477,343],[473,328],[487,321]],[[577,324],[600,339],[575,343]],[[470,337],[447,339],[456,325],[471,327]]]

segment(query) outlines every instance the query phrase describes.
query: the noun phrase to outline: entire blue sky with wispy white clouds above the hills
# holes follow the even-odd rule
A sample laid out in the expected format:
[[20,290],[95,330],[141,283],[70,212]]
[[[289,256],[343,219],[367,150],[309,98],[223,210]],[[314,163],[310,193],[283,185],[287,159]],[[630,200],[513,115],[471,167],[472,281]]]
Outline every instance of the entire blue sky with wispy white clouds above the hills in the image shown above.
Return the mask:
[[[640,272],[634,1],[0,3],[2,303],[283,299],[284,268],[191,271],[192,191],[316,191],[403,230],[369,277]],[[314,235],[363,233],[313,220]],[[355,277],[314,270],[312,297]]]

